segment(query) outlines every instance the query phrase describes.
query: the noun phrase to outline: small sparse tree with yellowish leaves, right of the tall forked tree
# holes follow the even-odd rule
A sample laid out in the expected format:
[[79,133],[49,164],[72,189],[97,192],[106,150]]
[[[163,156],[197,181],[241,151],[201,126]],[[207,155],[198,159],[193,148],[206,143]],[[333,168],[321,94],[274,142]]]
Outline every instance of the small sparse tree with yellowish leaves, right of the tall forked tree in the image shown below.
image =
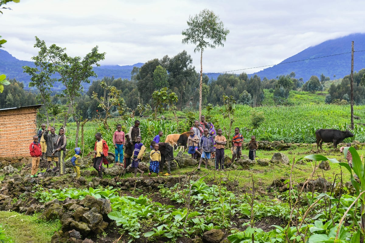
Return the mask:
[[[103,95],[99,98],[98,94],[93,92],[92,98],[99,102],[99,107],[104,111],[104,117],[102,119],[104,128],[109,130],[108,118],[111,117],[110,110],[114,106],[125,105],[124,99],[120,97],[122,90],[116,89],[114,86],[107,86],[104,81],[101,81],[100,86],[103,88]],[[122,105],[120,105],[122,104]]]

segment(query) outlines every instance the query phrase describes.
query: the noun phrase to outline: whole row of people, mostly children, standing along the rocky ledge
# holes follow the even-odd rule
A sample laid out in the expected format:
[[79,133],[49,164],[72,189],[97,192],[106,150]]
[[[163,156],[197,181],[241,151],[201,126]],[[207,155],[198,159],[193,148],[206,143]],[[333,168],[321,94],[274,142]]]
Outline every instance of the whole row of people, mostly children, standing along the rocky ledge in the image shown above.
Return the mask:
[[[219,171],[219,168],[224,170],[224,149],[227,145],[227,139],[222,135],[222,129],[218,129],[217,136],[210,133],[209,126],[204,126],[204,116],[202,116],[203,123],[196,120],[194,126],[190,130],[190,136],[188,137],[188,153],[191,154],[192,158],[200,157],[198,170],[200,169],[201,163],[205,162],[205,168],[208,165],[208,159],[211,158],[211,154],[215,152],[215,169]],[[203,126],[202,126],[203,124]],[[134,176],[137,176],[137,172],[143,175],[143,171],[138,168],[139,162],[145,153],[146,147],[142,144],[141,140],[141,130],[139,128],[140,122],[135,120],[134,126],[130,127],[127,134],[122,131],[122,125],[118,124],[116,126],[116,131],[113,134],[113,145],[115,149],[115,165],[117,166],[127,166],[131,165],[134,168]],[[213,126],[213,125],[211,125]],[[213,126],[214,130],[214,126]],[[49,126],[46,130],[46,124],[41,125],[41,129],[38,134],[33,137],[33,142],[30,145],[30,154],[32,158],[32,171],[31,177],[37,177],[37,171],[39,162],[47,157],[47,161],[50,164],[55,161],[56,166],[53,168],[54,172],[59,172],[58,175],[64,175],[65,173],[65,152],[66,152],[66,129],[59,129],[59,133],[55,134],[55,128]],[[170,163],[169,161],[173,159],[173,150],[168,143],[160,142],[160,138],[163,136],[163,132],[159,131],[158,134],[151,141],[150,148],[150,165],[149,165],[149,175],[151,173],[162,173],[163,165],[165,160],[167,163],[167,173],[164,176],[171,175]],[[95,134],[95,146],[94,146],[94,162],[93,167],[96,169],[99,178],[103,178],[104,164],[108,164],[106,161],[106,156],[108,155],[109,147],[107,142],[103,140],[101,133]],[[232,138],[233,143],[233,158],[232,161],[241,158],[242,152],[242,134],[239,133],[239,128],[235,128],[235,134]],[[255,141],[255,136],[251,137],[249,142],[249,158],[251,160],[255,159],[255,151],[258,148],[258,143]],[[75,148],[75,155],[71,158],[71,163],[74,167],[74,172],[76,173],[76,178],[80,177],[80,163],[78,159],[80,158],[80,148]],[[162,153],[163,152],[163,153]],[[161,154],[162,153],[162,154]],[[167,158],[166,158],[167,156]],[[161,160],[162,163],[161,163]],[[161,166],[162,165],[162,166]]]

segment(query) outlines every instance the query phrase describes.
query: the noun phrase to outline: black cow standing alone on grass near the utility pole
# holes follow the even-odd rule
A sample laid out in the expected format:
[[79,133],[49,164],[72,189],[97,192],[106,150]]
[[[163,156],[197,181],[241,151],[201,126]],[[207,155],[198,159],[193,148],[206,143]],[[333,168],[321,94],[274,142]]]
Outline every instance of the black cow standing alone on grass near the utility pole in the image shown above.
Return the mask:
[[336,129],[318,129],[316,130],[316,142],[317,142],[317,150],[318,146],[322,149],[323,142],[333,142],[333,148],[337,148],[337,144],[342,142],[345,138],[353,137],[349,130],[345,132],[336,130]]

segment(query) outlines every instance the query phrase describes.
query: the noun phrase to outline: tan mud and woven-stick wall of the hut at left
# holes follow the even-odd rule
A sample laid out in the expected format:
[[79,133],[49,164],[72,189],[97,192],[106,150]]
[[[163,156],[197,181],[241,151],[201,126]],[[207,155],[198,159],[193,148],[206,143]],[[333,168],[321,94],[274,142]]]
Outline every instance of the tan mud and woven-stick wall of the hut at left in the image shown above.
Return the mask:
[[0,110],[0,156],[28,157],[32,137],[37,134],[37,106]]

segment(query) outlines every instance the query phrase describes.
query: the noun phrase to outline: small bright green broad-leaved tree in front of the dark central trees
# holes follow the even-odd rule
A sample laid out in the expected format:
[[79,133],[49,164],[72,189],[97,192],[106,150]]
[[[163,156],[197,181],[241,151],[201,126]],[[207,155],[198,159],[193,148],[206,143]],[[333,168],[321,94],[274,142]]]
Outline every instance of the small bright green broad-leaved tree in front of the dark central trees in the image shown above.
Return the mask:
[[155,111],[155,121],[157,120],[157,112],[163,112],[164,105],[172,106],[177,102],[177,95],[168,88],[154,91],[152,93],[152,104]]

